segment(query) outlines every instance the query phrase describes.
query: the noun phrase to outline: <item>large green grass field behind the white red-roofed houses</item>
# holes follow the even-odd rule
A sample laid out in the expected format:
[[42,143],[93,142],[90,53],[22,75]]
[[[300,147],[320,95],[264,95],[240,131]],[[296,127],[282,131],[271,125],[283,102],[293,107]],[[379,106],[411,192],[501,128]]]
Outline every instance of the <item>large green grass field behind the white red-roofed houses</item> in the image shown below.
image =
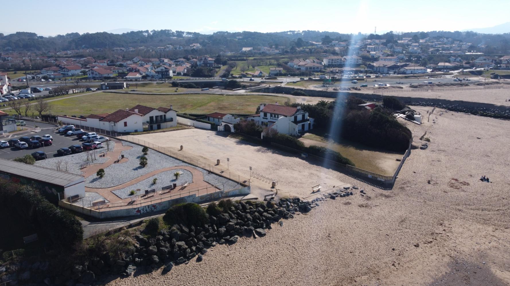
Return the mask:
[[137,104],[151,107],[170,106],[179,112],[202,113],[224,112],[254,114],[261,103],[285,102],[287,97],[265,95],[137,95],[117,93],[96,93],[84,97],[64,98],[51,102],[52,114],[89,115],[90,113],[113,112],[131,108]]

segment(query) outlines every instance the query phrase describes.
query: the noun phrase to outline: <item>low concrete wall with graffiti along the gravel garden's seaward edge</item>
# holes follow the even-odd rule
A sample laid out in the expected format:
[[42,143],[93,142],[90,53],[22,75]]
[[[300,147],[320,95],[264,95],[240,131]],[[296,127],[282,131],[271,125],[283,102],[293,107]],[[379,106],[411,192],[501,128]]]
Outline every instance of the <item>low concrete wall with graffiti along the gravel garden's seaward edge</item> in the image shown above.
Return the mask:
[[[125,208],[121,210],[108,210],[108,209],[100,209],[99,211],[83,208],[78,205],[72,205],[64,201],[59,201],[59,206],[65,209],[69,209],[75,212],[83,213],[95,218],[105,219],[112,217],[125,217],[125,216],[135,216],[135,215],[144,215],[147,213],[159,212],[169,209],[171,206],[181,203],[196,203],[202,204],[209,201],[214,201],[223,197],[229,196],[237,196],[244,195],[250,193],[250,187],[241,187],[238,189],[230,190],[230,191],[216,191],[213,193],[197,196],[196,194],[191,194],[183,197],[177,197],[174,199],[169,199],[163,202],[157,202],[154,204],[150,204],[142,207],[134,207],[134,208]],[[143,203],[143,200],[140,201]]]

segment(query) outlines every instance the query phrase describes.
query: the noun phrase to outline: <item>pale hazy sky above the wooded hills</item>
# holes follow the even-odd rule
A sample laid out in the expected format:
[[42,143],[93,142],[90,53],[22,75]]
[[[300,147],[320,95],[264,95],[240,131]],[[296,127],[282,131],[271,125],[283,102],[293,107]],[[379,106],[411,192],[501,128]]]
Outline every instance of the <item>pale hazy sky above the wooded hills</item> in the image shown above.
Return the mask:
[[[509,21],[509,0],[428,1],[2,1],[0,33],[94,33],[120,28],[187,31],[340,33],[462,31]],[[487,21],[489,20],[490,21]]]

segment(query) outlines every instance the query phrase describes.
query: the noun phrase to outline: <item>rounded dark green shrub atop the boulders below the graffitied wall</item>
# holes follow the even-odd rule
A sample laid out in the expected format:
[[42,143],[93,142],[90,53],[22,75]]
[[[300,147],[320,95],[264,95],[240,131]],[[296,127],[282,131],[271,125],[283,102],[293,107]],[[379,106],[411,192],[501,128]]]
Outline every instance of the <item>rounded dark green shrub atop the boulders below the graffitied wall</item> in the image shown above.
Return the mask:
[[182,203],[169,208],[163,220],[168,225],[184,224],[184,225],[203,225],[209,221],[207,213],[202,207],[195,203]]

